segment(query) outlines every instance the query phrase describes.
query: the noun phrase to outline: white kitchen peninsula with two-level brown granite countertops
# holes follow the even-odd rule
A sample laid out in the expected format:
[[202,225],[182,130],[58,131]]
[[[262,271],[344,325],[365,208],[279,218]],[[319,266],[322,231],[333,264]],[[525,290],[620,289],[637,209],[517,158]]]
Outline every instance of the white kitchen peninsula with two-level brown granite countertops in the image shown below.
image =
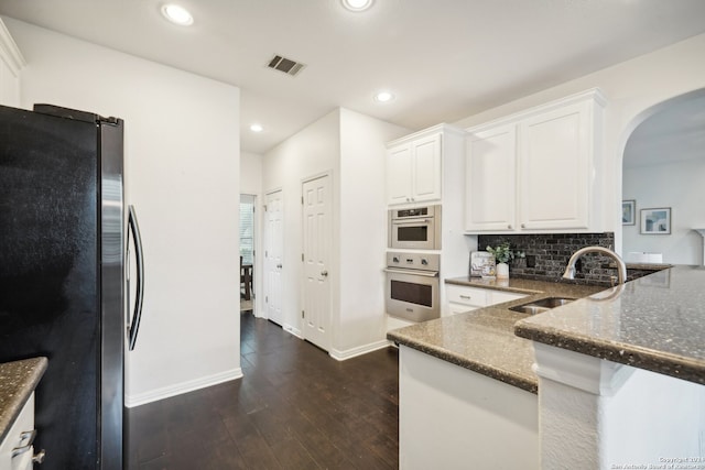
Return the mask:
[[[705,270],[690,266],[606,291],[512,278],[484,287],[530,296],[390,331],[400,346],[402,468],[702,457],[703,285]],[[509,310],[549,296],[585,298],[531,317]],[[511,452],[497,452],[508,442]]]

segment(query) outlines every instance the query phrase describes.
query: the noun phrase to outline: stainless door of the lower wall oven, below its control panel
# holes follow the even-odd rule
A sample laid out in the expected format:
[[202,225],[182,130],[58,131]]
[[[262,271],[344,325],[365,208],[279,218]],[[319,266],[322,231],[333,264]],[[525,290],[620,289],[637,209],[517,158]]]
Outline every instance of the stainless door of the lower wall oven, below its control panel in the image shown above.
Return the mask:
[[393,317],[426,321],[441,317],[438,273],[387,267],[386,308]]

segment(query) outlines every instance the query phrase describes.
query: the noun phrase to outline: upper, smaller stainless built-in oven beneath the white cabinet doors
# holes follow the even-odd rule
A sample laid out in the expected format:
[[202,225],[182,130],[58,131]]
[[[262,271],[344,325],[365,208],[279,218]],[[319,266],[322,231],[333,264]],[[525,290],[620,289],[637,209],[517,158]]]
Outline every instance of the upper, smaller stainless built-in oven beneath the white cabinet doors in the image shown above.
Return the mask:
[[389,210],[389,248],[441,250],[441,206]]

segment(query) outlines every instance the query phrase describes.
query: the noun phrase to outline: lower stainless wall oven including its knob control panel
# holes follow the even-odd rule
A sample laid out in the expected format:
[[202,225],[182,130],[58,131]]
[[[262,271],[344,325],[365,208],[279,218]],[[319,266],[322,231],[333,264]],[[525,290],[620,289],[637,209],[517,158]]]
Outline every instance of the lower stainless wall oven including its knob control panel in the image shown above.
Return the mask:
[[387,253],[387,313],[409,321],[441,316],[438,253]]

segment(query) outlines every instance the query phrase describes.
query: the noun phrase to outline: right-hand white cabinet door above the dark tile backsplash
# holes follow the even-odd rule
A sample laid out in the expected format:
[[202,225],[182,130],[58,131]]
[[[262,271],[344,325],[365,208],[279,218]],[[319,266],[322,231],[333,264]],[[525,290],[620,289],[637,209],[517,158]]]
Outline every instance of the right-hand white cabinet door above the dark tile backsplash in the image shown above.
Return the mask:
[[588,228],[592,132],[587,102],[520,122],[521,229]]

